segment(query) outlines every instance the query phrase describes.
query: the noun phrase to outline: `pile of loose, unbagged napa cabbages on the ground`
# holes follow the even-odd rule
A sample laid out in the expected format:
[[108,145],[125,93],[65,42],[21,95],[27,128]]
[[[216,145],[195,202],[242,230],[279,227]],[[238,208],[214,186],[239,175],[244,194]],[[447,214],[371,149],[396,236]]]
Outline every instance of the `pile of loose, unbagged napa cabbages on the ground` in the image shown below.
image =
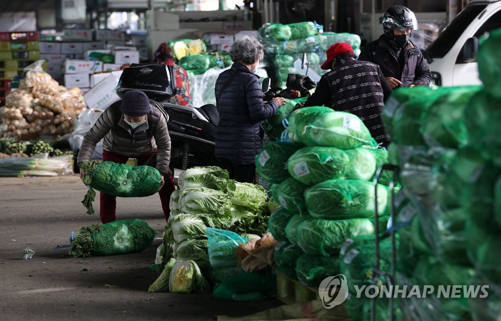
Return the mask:
[[[264,234],[269,215],[267,191],[229,179],[228,172],[217,166],[186,169],[179,175],[178,185],[170,198],[163,243],[152,265],[161,274],[149,291],[208,292],[206,279],[212,280],[209,276],[218,271],[211,270],[209,275],[206,227],[233,231],[245,239],[250,238],[249,233]],[[216,250],[214,245],[211,249]]]

